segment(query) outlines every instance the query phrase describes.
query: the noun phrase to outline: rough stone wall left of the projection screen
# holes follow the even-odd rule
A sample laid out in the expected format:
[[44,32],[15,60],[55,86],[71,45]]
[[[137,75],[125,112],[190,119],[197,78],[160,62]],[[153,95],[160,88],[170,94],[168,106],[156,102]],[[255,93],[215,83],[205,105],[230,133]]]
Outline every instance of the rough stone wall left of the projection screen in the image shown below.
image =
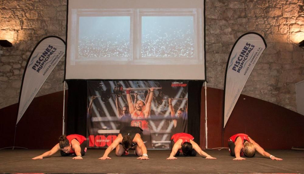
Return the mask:
[[[46,36],[65,40],[66,0],[0,0],[0,39],[13,47],[3,47],[0,57],[0,108],[18,103],[26,62],[33,48]],[[64,58],[41,87],[37,96],[63,90]]]

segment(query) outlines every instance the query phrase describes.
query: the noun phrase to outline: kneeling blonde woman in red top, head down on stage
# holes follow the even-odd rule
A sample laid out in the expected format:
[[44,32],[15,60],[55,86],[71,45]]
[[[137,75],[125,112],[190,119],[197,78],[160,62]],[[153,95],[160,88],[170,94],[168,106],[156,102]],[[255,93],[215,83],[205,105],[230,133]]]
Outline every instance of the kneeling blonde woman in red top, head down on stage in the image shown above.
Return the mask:
[[260,145],[246,134],[235,134],[228,139],[229,152],[231,156],[235,156],[233,160],[244,160],[241,156],[253,157],[255,151],[259,152],[266,158],[272,160],[282,160],[266,152]]

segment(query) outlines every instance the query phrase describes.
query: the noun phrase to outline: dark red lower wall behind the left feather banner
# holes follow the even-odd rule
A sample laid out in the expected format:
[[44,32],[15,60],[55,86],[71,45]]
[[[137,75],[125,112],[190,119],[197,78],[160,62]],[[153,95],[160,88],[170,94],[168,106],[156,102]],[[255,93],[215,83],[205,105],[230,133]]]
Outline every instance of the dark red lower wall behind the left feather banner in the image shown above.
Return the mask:
[[[13,146],[18,104],[0,109],[0,148]],[[34,98],[16,129],[15,146],[52,148],[62,134],[63,91]]]

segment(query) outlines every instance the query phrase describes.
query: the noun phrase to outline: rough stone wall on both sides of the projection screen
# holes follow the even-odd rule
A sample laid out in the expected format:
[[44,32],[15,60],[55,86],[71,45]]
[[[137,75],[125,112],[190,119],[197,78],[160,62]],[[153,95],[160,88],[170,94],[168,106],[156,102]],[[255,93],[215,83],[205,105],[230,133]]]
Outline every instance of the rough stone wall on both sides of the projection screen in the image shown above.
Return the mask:
[[[0,0],[0,108],[18,102],[26,61],[45,36],[65,39],[66,0]],[[304,80],[303,0],[206,0],[206,61],[208,87],[223,89],[226,62],[236,39],[260,33],[267,49],[242,94],[296,111],[295,83]],[[64,60],[43,84],[38,96],[63,90]]]

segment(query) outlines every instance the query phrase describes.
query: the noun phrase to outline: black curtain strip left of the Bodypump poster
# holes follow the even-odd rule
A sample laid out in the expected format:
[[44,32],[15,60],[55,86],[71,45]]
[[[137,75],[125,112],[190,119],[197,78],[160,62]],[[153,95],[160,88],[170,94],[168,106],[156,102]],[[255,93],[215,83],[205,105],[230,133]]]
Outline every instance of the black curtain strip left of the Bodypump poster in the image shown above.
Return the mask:
[[68,85],[66,134],[87,136],[87,81],[66,80]]

